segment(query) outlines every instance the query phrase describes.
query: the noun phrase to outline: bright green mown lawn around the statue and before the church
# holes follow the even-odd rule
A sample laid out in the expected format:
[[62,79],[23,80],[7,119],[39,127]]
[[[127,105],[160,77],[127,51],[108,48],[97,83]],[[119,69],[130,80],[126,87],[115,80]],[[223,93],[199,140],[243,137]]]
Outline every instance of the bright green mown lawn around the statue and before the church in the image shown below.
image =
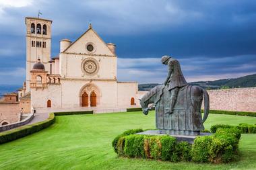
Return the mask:
[[[212,124],[255,124],[256,118],[210,114]],[[0,169],[256,169],[256,134],[243,134],[241,160],[211,165],[118,158],[111,142],[132,128],[154,128],[154,112],[57,116],[55,124],[36,134],[0,145]]]

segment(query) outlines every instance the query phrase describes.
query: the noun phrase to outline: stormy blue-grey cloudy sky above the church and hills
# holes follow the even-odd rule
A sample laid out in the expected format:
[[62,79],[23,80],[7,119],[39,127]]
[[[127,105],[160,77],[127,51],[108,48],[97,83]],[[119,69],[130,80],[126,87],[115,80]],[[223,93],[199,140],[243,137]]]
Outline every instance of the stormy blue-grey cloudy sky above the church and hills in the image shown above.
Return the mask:
[[164,54],[181,62],[187,81],[256,73],[256,1],[0,0],[0,84],[22,84],[25,17],[53,20],[52,56],[59,40],[74,41],[91,22],[117,44],[119,81],[162,83]]

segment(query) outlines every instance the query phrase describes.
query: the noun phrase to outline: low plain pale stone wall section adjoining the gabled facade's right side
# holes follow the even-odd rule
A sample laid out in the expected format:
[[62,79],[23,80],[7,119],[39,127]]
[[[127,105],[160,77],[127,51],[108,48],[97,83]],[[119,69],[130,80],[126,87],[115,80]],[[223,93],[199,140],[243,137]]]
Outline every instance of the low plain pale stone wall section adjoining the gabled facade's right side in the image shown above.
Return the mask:
[[131,97],[135,99],[135,104],[139,105],[137,101],[137,83],[118,82],[117,83],[117,105],[129,106],[131,105]]

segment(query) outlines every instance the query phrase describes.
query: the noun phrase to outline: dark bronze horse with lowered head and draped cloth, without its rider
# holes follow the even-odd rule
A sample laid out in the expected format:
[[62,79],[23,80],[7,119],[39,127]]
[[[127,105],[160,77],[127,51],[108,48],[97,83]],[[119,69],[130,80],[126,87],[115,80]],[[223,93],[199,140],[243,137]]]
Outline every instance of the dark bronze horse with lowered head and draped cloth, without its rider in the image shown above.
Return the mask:
[[[204,114],[202,118],[203,99]],[[169,114],[168,86],[158,85],[143,95],[140,100],[143,114],[148,114],[150,103],[154,103],[156,110],[156,128],[163,134],[199,135],[200,130],[204,130],[203,122],[207,119],[210,110],[207,91],[196,85],[185,85],[179,89],[172,114]]]

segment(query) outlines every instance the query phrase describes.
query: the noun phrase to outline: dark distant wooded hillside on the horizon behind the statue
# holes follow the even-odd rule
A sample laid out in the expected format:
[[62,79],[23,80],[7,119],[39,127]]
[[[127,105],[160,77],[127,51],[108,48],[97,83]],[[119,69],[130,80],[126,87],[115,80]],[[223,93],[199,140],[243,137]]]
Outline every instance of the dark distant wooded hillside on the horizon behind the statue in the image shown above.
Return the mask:
[[[148,91],[155,87],[156,83],[141,84],[139,90]],[[227,89],[239,87],[256,87],[256,74],[238,77],[236,79],[220,79],[216,81],[196,81],[191,82],[189,85],[199,85],[205,89]]]

